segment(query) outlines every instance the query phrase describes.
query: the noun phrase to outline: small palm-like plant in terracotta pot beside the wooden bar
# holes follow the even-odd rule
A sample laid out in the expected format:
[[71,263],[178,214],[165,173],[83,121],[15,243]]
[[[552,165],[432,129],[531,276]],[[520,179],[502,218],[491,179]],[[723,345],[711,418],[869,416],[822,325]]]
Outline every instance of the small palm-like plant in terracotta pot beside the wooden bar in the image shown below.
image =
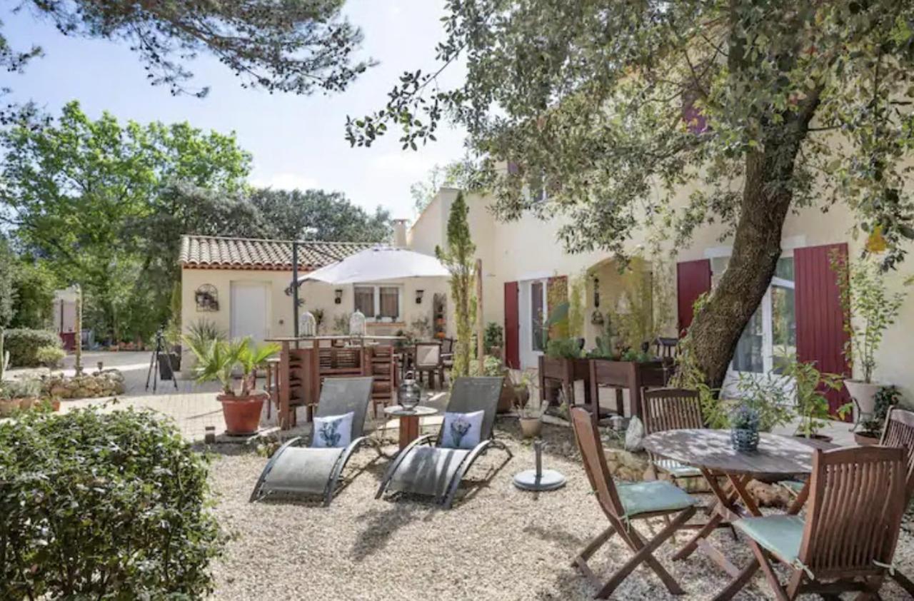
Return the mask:
[[[189,341],[187,341],[189,343]],[[256,346],[250,338],[233,341],[214,340],[205,349],[191,345],[197,355],[197,382],[218,380],[222,393],[216,397],[222,404],[226,430],[230,435],[249,435],[260,427],[260,411],[267,393],[253,389],[253,374],[257,366],[280,350],[278,344]],[[239,368],[241,385],[235,388],[233,372]]]

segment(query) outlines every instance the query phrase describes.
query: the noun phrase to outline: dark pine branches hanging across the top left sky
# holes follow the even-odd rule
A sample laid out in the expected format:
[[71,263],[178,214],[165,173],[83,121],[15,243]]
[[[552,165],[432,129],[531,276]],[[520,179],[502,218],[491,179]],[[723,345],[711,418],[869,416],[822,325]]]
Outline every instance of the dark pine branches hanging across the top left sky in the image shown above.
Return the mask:
[[[187,87],[188,63],[201,52],[218,58],[243,87],[310,94],[345,90],[371,64],[353,59],[362,34],[341,16],[344,1],[25,0],[15,10],[50,21],[65,36],[127,42],[150,82],[173,94],[206,95],[206,87]],[[0,33],[0,67],[21,71],[42,53],[12,48]]]

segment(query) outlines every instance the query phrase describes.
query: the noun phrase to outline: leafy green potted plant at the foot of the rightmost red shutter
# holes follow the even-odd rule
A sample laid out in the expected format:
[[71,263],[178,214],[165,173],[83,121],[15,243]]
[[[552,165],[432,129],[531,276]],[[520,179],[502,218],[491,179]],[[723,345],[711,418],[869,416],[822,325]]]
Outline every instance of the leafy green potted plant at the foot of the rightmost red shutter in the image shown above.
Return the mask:
[[[838,374],[823,374],[812,363],[792,361],[786,364],[782,374],[793,379],[795,394],[796,414],[799,418],[794,436],[802,438],[818,438],[831,442],[831,437],[819,434],[819,430],[832,418],[829,413],[828,390],[841,389],[841,376]],[[853,405],[845,403],[838,407],[837,416],[844,418]]]

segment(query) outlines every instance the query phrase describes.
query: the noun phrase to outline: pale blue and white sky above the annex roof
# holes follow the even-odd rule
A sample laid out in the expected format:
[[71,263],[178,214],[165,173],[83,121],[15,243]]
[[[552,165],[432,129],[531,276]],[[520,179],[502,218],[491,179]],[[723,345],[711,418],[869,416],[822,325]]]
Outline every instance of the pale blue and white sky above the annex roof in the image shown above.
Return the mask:
[[209,86],[209,95],[174,97],[166,86],[147,83],[127,43],[65,37],[27,9],[14,14],[9,7],[0,9],[0,20],[10,45],[25,50],[37,44],[45,56],[22,75],[4,73],[0,84],[13,89],[13,100],[34,100],[52,114],[79,100],[91,118],[109,111],[119,121],[189,121],[203,130],[235,132],[253,155],[254,185],[340,191],[368,210],[384,206],[393,217],[412,218],[409,186],[426,179],[435,164],[462,156],[462,131],[443,130],[438,142],[418,152],[401,151],[398,136],[389,133],[371,148],[350,148],[345,118],[382,108],[403,70],[434,66],[434,47],[444,35],[443,2],[348,0],[345,15],[365,35],[359,56],[378,65],[332,96],[244,90],[230,70],[201,53],[189,63],[196,75],[190,85]]

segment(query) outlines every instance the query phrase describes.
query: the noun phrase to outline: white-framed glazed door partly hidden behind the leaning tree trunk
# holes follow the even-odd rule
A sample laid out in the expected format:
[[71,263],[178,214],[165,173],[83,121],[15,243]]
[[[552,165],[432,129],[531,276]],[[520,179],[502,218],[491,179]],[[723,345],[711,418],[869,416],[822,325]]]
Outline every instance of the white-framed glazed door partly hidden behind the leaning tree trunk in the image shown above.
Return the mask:
[[[711,259],[711,282],[717,286],[727,269],[728,258]],[[793,297],[793,258],[781,257],[771,286],[762,297],[739,337],[733,353],[733,370],[752,374],[781,373],[796,357],[796,311]]]

